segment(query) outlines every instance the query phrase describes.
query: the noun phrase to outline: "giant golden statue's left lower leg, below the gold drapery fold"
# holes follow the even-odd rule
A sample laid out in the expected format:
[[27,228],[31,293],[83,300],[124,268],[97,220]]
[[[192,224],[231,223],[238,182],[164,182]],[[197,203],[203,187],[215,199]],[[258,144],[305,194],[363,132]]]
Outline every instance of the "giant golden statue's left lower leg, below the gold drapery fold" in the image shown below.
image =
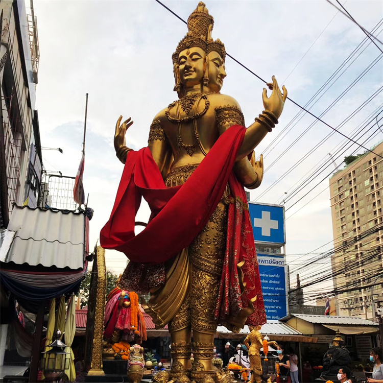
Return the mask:
[[186,296],[179,312],[169,323],[169,332],[172,339],[171,354],[173,359],[171,377],[189,381],[192,364],[192,328],[190,327],[189,295]]

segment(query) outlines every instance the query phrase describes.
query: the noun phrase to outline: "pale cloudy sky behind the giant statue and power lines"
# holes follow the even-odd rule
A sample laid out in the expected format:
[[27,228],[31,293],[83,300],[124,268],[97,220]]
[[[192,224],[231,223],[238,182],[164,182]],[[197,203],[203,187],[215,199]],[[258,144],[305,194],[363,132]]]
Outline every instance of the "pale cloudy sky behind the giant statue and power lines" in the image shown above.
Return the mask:
[[[85,94],[89,93],[84,188],[86,195],[89,193],[88,206],[94,209],[90,221],[92,248],[109,218],[123,171],[113,148],[117,118],[122,114],[134,121],[127,133],[129,147],[138,150],[147,145],[153,117],[176,99],[171,56],[187,29],[154,0],[33,3],[40,49],[36,108],[41,145],[63,150],[63,154],[43,151],[47,171],[76,175],[81,159]],[[198,2],[163,3],[187,19]],[[335,0],[333,3],[337,4]],[[381,1],[348,0],[342,4],[368,31],[383,18]],[[275,75],[279,85],[288,88],[289,97],[302,106],[366,38],[360,28],[325,0],[206,1],[206,7],[214,17],[214,39],[220,38],[231,56],[262,79],[270,81]],[[374,33],[380,40],[382,30],[383,26]],[[324,113],[322,119],[336,128],[377,92],[340,131],[350,135],[368,116],[376,115],[383,103],[379,55],[381,52],[368,40],[330,81],[332,85],[324,88],[322,97],[315,99],[315,105],[310,104],[310,111],[317,116]],[[263,110],[264,83],[230,58],[226,59],[226,72],[222,93],[240,103],[249,126]],[[357,80],[358,77],[361,78]],[[348,89],[354,80],[357,81]],[[316,120],[308,114],[295,118],[298,112],[300,108],[286,101],[279,124],[255,149],[257,156],[264,153],[265,176],[261,186],[250,192],[252,201],[276,204],[285,199],[286,254],[291,268],[304,265],[313,257],[305,254],[325,244],[328,245],[314,254],[332,246],[326,176],[334,171],[334,164],[328,153],[338,166],[345,155],[364,151],[355,144],[345,154],[337,151],[344,137],[334,133],[301,160],[331,129],[321,122],[312,125]],[[375,134],[370,137],[372,132]],[[370,148],[381,139],[383,133],[375,125],[356,140]],[[293,166],[297,161],[299,165]],[[323,173],[294,196],[292,192],[302,177],[318,165]],[[143,206],[137,220],[148,218],[149,209]],[[119,273],[125,265],[124,254],[107,251],[108,269]]]

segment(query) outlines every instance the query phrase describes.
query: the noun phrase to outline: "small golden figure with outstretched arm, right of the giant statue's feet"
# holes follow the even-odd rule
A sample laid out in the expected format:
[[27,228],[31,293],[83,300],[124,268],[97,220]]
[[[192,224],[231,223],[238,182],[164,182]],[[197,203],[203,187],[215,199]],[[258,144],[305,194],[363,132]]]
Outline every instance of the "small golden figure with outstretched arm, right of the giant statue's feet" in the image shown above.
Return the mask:
[[[260,354],[259,351],[262,347],[264,347],[264,341],[262,341],[262,336],[259,332],[261,326],[249,326],[250,334],[246,337],[244,343],[247,349],[249,350],[249,361],[250,361],[250,370],[251,373],[251,379],[250,383],[253,383],[254,381],[256,383],[260,383],[261,381],[261,375],[262,375],[262,364],[260,361]],[[250,345],[249,345],[250,342]],[[277,347],[277,342],[270,341],[267,342],[267,345],[273,345],[274,347]]]

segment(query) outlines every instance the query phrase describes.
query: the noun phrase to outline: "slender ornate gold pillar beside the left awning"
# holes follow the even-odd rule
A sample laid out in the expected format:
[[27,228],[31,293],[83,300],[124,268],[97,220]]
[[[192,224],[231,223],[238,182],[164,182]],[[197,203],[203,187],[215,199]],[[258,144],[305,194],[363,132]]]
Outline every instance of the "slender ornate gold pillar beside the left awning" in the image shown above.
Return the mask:
[[105,314],[105,293],[106,293],[106,268],[105,249],[97,247],[97,296],[94,313],[94,337],[91,353],[91,365],[88,375],[105,375],[103,370],[103,332]]

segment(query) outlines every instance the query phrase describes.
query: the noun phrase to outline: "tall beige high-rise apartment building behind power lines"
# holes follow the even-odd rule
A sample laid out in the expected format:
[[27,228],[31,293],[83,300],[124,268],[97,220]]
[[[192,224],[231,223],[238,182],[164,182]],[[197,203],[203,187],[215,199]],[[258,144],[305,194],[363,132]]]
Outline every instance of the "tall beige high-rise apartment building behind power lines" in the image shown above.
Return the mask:
[[383,142],[372,151],[330,178],[338,315],[372,318],[383,306]]

